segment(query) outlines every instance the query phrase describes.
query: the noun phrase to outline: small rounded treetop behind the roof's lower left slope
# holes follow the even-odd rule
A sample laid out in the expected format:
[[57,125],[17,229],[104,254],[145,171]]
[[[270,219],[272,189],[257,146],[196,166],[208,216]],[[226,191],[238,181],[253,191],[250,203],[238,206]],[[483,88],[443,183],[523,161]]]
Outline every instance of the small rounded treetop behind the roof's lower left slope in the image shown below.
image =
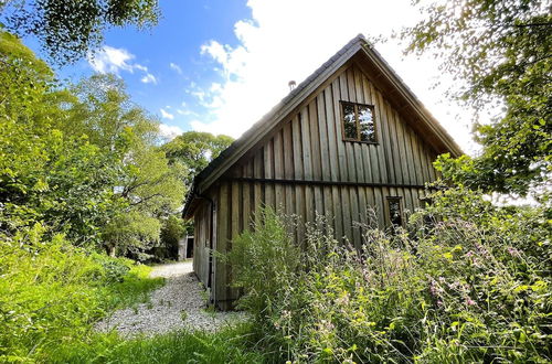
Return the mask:
[[234,139],[223,135],[213,136],[209,132],[188,131],[166,143],[163,150],[172,163],[180,162],[188,167],[190,175],[185,181],[190,185],[193,176],[233,141]]

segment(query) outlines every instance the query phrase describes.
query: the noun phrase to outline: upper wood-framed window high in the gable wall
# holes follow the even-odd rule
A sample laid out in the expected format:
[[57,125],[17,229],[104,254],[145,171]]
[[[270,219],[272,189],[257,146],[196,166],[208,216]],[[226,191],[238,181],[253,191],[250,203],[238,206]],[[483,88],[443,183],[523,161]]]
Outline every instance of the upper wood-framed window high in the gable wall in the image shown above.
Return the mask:
[[378,142],[372,105],[341,101],[341,111],[343,114],[344,140]]

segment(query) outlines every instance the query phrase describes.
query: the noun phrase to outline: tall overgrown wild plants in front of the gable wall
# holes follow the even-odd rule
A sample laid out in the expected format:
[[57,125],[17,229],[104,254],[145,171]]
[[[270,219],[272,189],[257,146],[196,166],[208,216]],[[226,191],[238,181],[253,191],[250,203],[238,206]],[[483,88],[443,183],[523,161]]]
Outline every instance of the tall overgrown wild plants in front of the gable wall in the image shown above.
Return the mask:
[[[550,361],[550,212],[493,207],[464,190],[433,197],[408,232],[364,226],[362,251],[319,221],[297,254],[265,213],[230,253],[259,345],[299,362]],[[289,257],[278,269],[274,251]]]

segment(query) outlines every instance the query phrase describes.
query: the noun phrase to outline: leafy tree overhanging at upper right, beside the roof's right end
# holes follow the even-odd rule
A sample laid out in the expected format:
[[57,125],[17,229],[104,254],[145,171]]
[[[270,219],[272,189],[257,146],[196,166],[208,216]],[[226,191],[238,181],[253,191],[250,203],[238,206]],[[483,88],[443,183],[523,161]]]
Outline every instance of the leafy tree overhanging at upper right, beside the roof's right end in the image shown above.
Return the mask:
[[423,11],[425,20],[403,31],[407,52],[433,52],[443,58],[443,69],[466,84],[456,96],[476,109],[497,101],[503,105],[491,124],[475,124],[480,156],[440,159],[445,176],[485,191],[520,194],[550,183],[550,3],[454,0]]

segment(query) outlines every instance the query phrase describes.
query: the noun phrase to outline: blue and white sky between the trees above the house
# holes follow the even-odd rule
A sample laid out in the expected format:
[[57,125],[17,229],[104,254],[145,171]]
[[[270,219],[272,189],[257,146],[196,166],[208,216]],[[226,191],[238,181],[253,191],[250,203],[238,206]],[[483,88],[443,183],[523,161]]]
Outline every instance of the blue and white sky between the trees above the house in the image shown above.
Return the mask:
[[[240,137],[357,34],[375,49],[468,153],[471,110],[446,97],[452,77],[429,55],[404,56],[393,31],[421,19],[411,0],[160,0],[151,30],[113,29],[87,60],[59,69],[124,78],[167,138],[188,130]],[[32,42],[31,47],[35,46]],[[435,86],[439,83],[438,86]]]

